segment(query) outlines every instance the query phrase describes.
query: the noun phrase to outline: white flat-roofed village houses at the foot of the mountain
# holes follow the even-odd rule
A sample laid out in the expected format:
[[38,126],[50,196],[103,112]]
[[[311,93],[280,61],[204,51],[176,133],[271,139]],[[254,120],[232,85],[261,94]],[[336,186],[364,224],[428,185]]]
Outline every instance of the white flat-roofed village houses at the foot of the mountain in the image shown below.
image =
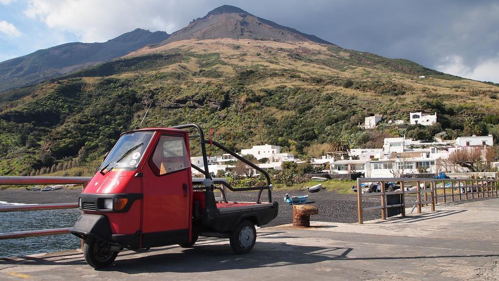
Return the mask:
[[[365,118],[363,129],[374,129],[382,120],[381,115]],[[403,120],[390,120],[389,123],[403,124]],[[437,122],[437,114],[411,112],[410,124],[423,126]],[[464,136],[452,140],[443,139],[443,133],[436,134],[434,139],[413,140],[403,137],[385,138],[380,148],[352,148],[344,151],[326,152],[321,158],[310,158],[307,161],[322,167],[322,173],[329,178],[355,179],[357,177],[391,178],[391,177],[427,177],[440,172],[462,173],[481,172],[485,166],[497,168],[499,162],[494,161],[494,139],[492,135]],[[304,159],[296,158],[291,153],[281,152],[281,147],[272,144],[254,145],[242,149],[240,156],[254,160],[254,163],[265,170],[282,170],[286,161],[302,164]],[[256,176],[258,172],[238,161],[230,154],[209,156],[208,167],[213,175]],[[203,165],[203,157],[191,157],[194,165]],[[484,167],[480,167],[484,163]],[[193,169],[193,174],[198,173]],[[345,174],[351,176],[346,178]],[[343,175],[343,176],[342,176]]]

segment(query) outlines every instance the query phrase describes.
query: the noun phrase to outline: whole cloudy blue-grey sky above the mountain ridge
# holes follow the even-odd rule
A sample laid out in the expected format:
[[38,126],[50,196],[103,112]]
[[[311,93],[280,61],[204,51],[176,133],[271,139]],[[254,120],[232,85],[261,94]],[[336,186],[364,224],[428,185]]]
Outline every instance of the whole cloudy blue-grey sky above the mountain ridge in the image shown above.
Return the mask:
[[344,48],[499,83],[498,0],[0,0],[0,61],[135,28],[172,33],[223,4]]

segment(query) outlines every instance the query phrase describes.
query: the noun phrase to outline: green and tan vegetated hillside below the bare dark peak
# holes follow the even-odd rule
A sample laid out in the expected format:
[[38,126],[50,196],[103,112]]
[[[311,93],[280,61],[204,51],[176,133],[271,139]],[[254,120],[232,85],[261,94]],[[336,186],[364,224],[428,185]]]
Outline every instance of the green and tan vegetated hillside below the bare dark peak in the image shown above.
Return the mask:
[[[440,131],[493,134],[498,141],[499,106],[492,102],[498,95],[495,85],[334,46],[186,42],[2,93],[0,174],[95,168],[149,104],[144,127],[198,123],[232,149],[271,143],[307,158],[323,151],[310,148],[338,138],[352,148]],[[408,121],[411,111],[437,112],[439,123],[388,123]],[[357,126],[374,113],[384,115],[377,129]]]

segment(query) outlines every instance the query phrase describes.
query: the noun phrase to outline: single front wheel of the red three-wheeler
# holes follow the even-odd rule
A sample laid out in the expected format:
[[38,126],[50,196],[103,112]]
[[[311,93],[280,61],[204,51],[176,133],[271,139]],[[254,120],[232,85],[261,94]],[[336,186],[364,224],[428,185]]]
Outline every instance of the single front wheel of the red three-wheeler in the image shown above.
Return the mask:
[[83,245],[85,261],[94,269],[102,269],[110,266],[116,259],[116,256],[118,256],[118,252],[112,251],[110,244],[90,237],[85,239],[85,244]]

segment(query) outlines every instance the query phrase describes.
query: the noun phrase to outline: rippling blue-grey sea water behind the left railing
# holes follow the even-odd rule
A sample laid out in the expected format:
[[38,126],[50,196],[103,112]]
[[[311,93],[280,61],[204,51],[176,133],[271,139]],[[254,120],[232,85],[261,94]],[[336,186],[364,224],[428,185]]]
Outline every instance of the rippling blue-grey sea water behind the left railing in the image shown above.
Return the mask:
[[[16,205],[0,201],[0,206]],[[0,233],[72,227],[80,211],[44,210],[0,213]],[[0,240],[0,258],[74,250],[80,240],[72,234]]]

